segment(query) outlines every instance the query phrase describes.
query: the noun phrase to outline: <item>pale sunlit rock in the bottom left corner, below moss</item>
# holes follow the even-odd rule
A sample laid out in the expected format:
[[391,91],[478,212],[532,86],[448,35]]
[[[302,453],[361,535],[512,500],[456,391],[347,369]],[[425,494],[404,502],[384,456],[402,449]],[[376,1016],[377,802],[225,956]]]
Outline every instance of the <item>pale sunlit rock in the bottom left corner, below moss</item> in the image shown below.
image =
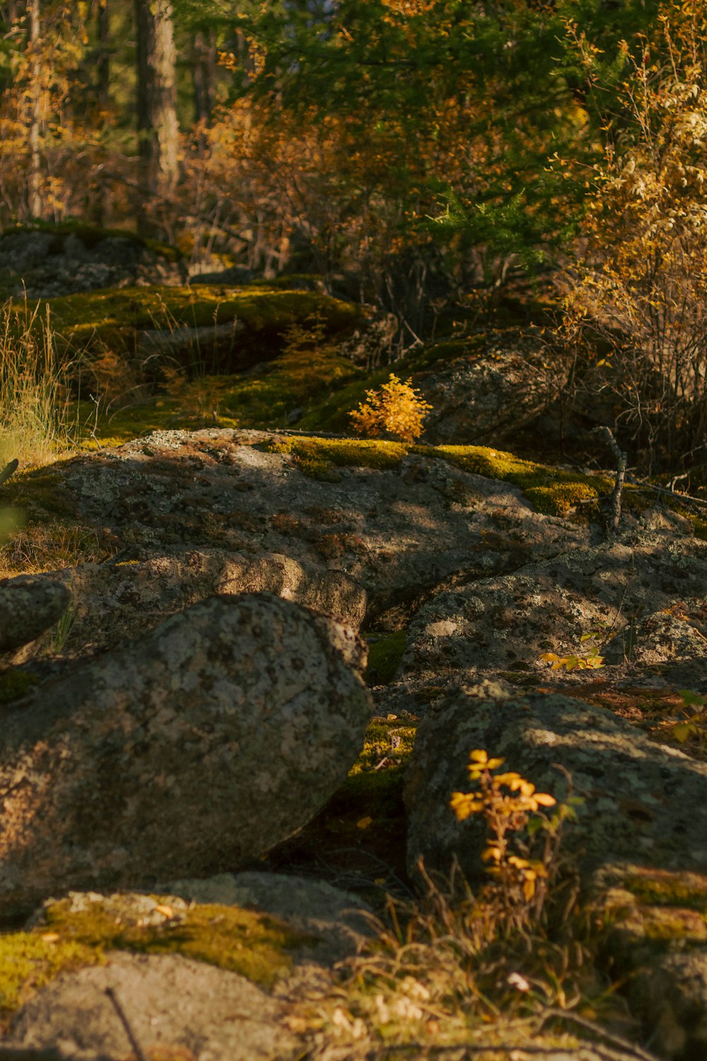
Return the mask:
[[132,1056],[131,1044],[108,990],[147,1056],[157,1057],[154,1050],[167,1047],[174,1053],[164,1056],[175,1061],[285,1061],[297,1056],[282,1003],[236,973],[157,954],[112,953],[105,966],[64,973],[23,1007],[7,1046],[60,1043],[66,1057],[93,1050],[100,1061],[125,1061]]

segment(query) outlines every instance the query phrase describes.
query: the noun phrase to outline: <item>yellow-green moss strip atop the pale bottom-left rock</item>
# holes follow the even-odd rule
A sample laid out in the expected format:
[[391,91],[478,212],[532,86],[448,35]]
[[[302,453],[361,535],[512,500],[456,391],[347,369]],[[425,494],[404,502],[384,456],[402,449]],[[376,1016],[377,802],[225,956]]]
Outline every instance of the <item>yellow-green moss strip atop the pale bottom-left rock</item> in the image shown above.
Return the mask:
[[[159,897],[156,897],[159,899]],[[170,898],[160,900],[169,910]],[[317,938],[296,932],[276,918],[238,906],[204,904],[175,910],[161,923],[122,917],[110,900],[74,910],[69,900],[53,903],[46,928],[61,940],[100,953],[181,954],[228,969],[262,987],[291,968],[291,951]]]

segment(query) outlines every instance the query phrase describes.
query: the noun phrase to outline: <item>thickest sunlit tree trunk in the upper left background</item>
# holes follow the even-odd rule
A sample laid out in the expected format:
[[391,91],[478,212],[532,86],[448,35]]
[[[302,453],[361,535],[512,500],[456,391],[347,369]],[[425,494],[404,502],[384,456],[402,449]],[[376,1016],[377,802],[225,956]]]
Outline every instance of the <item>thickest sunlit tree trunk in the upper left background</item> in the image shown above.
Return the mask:
[[170,0],[135,0],[138,30],[138,142],[141,223],[169,202],[179,176],[176,53]]

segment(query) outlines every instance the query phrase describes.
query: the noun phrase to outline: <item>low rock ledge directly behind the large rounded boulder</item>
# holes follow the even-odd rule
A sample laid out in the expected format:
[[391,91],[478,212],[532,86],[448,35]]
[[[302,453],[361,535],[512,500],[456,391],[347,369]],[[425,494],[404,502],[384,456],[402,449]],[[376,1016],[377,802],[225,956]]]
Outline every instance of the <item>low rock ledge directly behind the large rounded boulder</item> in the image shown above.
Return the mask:
[[194,549],[142,562],[84,563],[46,577],[71,591],[73,622],[63,650],[74,655],[114,648],[218,593],[275,593],[355,630],[366,614],[366,591],[344,572],[317,570],[281,554]]

